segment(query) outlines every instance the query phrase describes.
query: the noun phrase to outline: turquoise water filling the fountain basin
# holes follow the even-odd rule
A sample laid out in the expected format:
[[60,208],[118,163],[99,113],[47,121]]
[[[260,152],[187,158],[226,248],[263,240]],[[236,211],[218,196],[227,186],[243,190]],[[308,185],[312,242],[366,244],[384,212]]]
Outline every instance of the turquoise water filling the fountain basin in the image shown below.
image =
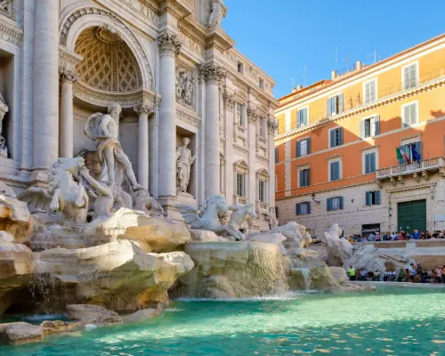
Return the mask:
[[0,347],[0,355],[445,355],[445,292],[381,287],[366,294],[289,294],[177,301],[139,325]]

